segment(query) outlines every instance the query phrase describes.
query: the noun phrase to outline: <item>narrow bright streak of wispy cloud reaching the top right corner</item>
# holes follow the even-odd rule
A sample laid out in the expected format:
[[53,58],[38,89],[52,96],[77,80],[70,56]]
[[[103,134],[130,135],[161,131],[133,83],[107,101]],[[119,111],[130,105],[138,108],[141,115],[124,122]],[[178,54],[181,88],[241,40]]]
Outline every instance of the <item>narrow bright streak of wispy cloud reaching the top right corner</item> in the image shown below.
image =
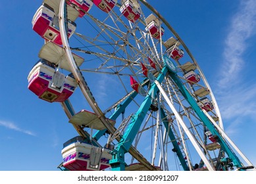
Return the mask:
[[235,85],[238,81],[243,64],[245,51],[248,47],[247,40],[256,32],[256,1],[242,0],[239,11],[234,14],[230,32],[224,44],[224,60],[218,86],[227,88]]

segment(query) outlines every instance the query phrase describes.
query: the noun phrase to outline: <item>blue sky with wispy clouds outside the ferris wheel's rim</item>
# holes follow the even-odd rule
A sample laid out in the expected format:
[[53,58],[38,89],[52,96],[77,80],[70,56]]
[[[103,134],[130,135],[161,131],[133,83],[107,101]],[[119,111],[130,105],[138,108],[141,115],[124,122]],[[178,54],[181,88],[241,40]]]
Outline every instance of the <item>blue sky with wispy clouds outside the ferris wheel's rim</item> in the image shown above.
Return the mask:
[[[226,133],[256,165],[256,0],[148,2],[193,53],[215,94]],[[43,45],[31,24],[39,5],[28,0],[0,5],[0,170],[57,170],[63,143],[77,135],[60,104],[41,101],[27,89]],[[82,98],[76,90],[77,111],[88,106]]]

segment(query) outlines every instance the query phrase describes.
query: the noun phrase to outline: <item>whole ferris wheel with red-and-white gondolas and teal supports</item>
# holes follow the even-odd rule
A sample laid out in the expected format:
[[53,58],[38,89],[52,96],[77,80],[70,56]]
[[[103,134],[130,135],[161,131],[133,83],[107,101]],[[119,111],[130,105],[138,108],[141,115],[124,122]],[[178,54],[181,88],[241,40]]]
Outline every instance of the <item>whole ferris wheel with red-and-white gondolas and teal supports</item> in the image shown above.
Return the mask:
[[[79,134],[60,168],[255,170],[192,53],[147,1],[45,0],[32,24],[45,45],[28,88],[61,103]],[[90,110],[74,110],[75,89]]]

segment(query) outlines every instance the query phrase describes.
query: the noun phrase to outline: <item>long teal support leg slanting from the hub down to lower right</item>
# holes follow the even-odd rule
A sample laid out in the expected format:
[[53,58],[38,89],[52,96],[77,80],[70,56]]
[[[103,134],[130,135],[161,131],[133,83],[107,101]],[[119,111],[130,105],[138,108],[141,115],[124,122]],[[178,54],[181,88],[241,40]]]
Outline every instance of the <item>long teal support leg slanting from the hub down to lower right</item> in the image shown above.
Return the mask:
[[209,129],[209,131],[211,131],[211,133],[213,135],[217,135],[218,143],[220,144],[220,146],[222,147],[224,152],[226,152],[226,154],[228,154],[228,157],[230,159],[232,159],[232,162],[233,162],[234,166],[242,167],[242,163],[240,162],[239,158],[232,151],[232,149],[230,149],[230,147],[228,146],[226,141],[224,141],[224,139],[222,138],[220,133],[218,133],[217,129],[213,126],[211,121],[207,118],[207,116],[205,116],[205,114],[203,113],[201,108],[199,108],[195,99],[193,99],[192,95],[190,95],[190,93],[188,92],[188,90],[183,85],[182,81],[180,80],[180,78],[178,78],[177,74],[172,72],[172,70],[170,70],[170,69],[168,69],[168,70],[169,70],[169,72],[168,72],[169,76],[172,78],[172,80],[179,87],[180,92],[182,93],[182,95],[184,96],[186,101],[188,101],[188,103],[190,103],[190,106],[192,106],[193,110],[195,110],[195,113],[197,114],[197,116],[199,116],[199,118],[201,119],[201,122],[203,122],[203,124]]

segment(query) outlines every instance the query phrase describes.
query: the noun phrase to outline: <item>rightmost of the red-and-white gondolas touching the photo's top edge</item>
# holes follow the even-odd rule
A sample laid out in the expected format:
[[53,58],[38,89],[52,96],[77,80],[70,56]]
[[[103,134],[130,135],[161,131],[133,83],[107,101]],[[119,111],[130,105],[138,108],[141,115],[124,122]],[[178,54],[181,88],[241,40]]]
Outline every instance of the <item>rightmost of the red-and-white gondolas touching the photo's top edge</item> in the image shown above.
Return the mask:
[[131,22],[135,22],[140,18],[141,9],[138,1],[136,0],[128,0],[120,7],[120,12],[128,18]]

